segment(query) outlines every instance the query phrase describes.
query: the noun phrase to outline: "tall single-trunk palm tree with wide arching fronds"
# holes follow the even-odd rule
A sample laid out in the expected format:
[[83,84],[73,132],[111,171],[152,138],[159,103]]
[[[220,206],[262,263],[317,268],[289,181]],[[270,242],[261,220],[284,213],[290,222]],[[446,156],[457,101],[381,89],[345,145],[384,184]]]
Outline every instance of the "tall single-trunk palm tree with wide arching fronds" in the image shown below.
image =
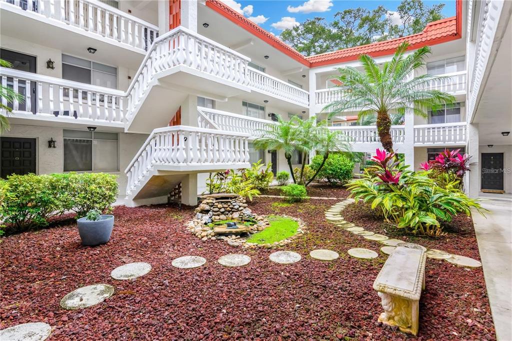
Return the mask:
[[444,104],[455,102],[455,97],[439,90],[431,90],[429,83],[434,80],[449,79],[432,75],[411,77],[414,70],[425,65],[425,57],[431,53],[424,46],[406,56],[408,42],[403,42],[390,61],[380,69],[369,55],[361,55],[359,61],[364,71],[354,67],[339,68],[337,79],[344,96],[324,108],[329,118],[344,111],[357,111],[359,118],[377,115],[377,132],[380,143],[388,152],[393,152],[391,139],[390,113],[404,115],[412,112],[426,117],[428,110],[437,110]]

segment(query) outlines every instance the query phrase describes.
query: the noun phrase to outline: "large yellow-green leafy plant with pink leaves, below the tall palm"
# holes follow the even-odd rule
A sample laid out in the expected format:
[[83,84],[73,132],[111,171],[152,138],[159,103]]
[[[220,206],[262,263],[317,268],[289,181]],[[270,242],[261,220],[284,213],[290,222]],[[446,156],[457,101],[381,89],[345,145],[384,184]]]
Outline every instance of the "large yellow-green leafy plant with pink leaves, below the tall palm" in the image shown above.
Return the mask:
[[422,235],[440,236],[445,222],[458,214],[470,215],[483,209],[478,200],[468,198],[461,190],[442,188],[429,172],[409,171],[397,161],[394,153],[377,150],[372,158],[375,166],[365,170],[361,179],[348,183],[351,197],[363,200],[390,224]]

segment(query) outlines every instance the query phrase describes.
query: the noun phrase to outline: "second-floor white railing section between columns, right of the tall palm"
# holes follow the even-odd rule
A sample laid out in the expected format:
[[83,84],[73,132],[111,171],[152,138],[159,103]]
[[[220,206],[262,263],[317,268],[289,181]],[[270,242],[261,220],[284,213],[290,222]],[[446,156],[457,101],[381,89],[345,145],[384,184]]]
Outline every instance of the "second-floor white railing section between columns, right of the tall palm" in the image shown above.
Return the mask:
[[422,124],[414,126],[414,144],[465,144],[466,123]]

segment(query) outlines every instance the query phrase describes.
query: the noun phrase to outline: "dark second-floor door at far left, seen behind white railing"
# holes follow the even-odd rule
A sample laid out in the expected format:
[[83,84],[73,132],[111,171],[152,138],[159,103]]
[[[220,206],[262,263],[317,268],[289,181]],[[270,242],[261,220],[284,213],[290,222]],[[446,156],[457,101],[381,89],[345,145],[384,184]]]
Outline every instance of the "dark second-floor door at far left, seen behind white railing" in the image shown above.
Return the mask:
[[[23,53],[19,53],[19,52],[0,49],[0,58],[10,62],[12,64],[13,70],[19,70],[19,71],[25,71],[25,72],[31,72],[31,73],[36,72],[36,68],[35,68],[36,58],[34,56],[29,56],[27,54],[23,54]],[[11,88],[11,89],[13,88],[12,77],[7,77],[7,87]],[[18,82],[18,92],[20,94],[22,94],[23,96],[25,96],[25,94],[26,94],[26,91],[27,91],[26,87],[27,86],[26,86],[25,81]],[[30,102],[31,102],[30,108],[31,108],[31,112],[33,114],[35,114],[36,113],[36,104],[35,103],[36,103],[36,99],[37,99],[35,82],[30,82],[30,89],[28,89],[28,91],[32,92],[32,95],[30,98]],[[12,108],[12,103],[8,103],[8,105],[10,108]],[[19,111],[27,111],[27,103],[25,103],[25,101],[20,102],[18,104],[18,110]]]

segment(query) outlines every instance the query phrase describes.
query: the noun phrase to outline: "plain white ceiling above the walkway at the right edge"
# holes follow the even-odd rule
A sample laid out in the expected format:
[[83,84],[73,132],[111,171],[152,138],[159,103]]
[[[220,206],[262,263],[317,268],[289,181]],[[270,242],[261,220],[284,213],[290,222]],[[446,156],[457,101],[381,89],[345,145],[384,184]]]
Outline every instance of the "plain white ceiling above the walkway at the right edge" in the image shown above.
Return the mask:
[[479,144],[512,144],[512,19],[505,35],[489,78],[485,84],[473,123],[479,123]]

